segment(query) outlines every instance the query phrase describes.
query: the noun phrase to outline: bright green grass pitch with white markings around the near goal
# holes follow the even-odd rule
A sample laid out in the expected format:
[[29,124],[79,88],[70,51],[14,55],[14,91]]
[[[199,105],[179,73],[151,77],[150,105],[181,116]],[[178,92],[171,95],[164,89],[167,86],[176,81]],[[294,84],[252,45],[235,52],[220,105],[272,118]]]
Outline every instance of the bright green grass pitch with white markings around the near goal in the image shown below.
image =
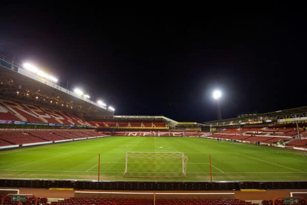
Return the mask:
[[[105,137],[0,152],[0,178],[97,180],[157,180],[123,177],[125,152],[184,152],[187,178],[171,181],[208,181],[209,154],[214,181],[307,180],[304,152],[275,147],[218,142],[187,137]],[[165,166],[167,165],[167,162]]]

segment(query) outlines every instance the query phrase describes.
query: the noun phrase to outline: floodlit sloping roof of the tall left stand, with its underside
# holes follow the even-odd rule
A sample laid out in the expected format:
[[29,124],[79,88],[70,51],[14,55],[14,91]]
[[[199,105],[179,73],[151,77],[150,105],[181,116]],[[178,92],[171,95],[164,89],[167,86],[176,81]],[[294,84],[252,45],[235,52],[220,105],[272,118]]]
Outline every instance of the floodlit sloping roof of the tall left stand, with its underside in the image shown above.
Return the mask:
[[113,116],[106,107],[0,58],[0,97],[69,110],[83,117]]

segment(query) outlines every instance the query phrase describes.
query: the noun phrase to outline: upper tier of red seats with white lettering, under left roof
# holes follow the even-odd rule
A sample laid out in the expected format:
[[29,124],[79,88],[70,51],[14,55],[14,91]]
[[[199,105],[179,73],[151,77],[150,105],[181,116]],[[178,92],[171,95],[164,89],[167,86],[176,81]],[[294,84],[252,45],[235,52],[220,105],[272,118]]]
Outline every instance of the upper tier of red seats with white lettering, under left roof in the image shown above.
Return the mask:
[[5,99],[0,99],[0,119],[94,126],[90,121],[88,122],[71,113]]

